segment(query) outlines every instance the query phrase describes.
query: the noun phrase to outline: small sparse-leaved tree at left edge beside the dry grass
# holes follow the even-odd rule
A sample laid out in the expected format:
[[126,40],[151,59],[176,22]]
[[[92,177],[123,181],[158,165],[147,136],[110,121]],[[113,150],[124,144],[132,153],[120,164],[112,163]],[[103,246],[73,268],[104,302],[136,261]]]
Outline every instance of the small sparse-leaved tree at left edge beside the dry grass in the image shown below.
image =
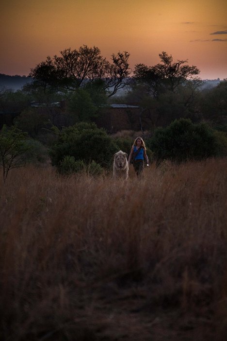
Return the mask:
[[23,155],[31,149],[27,139],[28,135],[16,127],[7,128],[3,125],[0,131],[0,165],[4,182],[9,170],[24,166]]

